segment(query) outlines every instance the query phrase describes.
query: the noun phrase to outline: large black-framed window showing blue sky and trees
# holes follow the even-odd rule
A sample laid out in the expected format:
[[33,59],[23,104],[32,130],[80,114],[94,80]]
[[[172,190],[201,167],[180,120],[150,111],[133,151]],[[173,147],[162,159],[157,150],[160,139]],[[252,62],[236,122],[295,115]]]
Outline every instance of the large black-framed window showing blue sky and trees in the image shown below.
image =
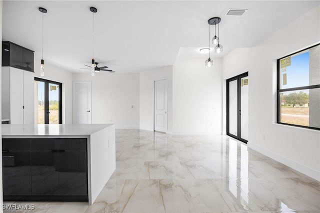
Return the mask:
[[277,123],[320,130],[320,44],[277,59]]

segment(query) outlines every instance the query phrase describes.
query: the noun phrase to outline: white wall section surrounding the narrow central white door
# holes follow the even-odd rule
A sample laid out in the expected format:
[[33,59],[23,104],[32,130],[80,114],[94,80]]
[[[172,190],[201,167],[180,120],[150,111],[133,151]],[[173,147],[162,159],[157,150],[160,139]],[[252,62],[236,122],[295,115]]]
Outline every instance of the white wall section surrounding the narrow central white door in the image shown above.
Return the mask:
[[153,131],[154,80],[167,80],[168,130],[172,130],[172,66],[140,72],[140,128]]

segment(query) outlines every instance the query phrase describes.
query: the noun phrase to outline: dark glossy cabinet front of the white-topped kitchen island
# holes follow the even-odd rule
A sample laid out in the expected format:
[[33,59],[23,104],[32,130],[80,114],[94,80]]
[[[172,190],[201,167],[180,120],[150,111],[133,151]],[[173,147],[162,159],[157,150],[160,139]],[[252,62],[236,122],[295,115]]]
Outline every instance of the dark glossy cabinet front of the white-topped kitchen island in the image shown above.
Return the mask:
[[[17,146],[26,150],[15,151]],[[3,163],[4,200],[87,201],[86,147],[86,138],[2,139],[2,149],[7,150],[3,161],[4,154],[17,156],[15,152],[25,158],[25,167],[15,166],[17,157],[13,162],[7,159],[7,166]],[[15,170],[8,172],[7,168]],[[22,178],[20,186],[11,187]],[[4,190],[6,187],[9,190]]]

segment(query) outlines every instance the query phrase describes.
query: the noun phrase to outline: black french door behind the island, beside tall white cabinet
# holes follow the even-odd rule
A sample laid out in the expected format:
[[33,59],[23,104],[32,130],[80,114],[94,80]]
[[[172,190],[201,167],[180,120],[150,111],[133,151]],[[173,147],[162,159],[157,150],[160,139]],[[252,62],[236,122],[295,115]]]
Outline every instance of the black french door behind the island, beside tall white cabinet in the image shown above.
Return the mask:
[[34,123],[62,123],[62,83],[34,77]]

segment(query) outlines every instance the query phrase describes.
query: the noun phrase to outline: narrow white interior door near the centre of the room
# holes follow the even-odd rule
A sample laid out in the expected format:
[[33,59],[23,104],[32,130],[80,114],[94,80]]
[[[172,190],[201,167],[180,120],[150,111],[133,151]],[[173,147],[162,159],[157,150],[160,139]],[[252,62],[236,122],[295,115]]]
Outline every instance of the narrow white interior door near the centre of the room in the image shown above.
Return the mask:
[[165,79],[154,81],[154,130],[167,131],[167,86]]

